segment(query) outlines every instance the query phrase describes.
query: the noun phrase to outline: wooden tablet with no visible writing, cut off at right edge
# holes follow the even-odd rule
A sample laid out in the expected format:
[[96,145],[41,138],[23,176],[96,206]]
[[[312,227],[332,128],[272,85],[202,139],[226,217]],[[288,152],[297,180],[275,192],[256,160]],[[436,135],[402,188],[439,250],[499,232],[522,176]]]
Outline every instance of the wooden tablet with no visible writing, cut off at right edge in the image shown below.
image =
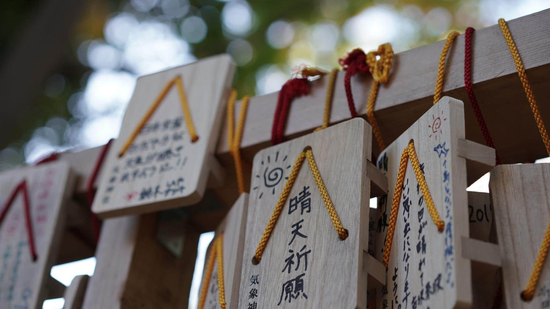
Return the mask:
[[498,165],[489,191],[502,256],[503,293],[508,308],[546,308],[550,304],[550,266],[544,263],[535,298],[521,300],[544,232],[550,222],[550,164]]

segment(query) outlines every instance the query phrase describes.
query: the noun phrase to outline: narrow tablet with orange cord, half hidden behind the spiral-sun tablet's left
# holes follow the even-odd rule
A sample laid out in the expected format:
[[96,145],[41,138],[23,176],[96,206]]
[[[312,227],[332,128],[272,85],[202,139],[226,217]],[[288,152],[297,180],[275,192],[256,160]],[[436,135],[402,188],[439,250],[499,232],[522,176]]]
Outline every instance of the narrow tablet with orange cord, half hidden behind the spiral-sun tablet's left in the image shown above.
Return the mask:
[[[238,308],[247,210],[248,194],[244,193],[239,196],[216,229],[216,235],[206,255],[199,293],[199,309],[222,308],[220,299],[224,300],[225,308]],[[219,252],[218,241],[222,242],[221,253]],[[216,250],[214,255],[212,255],[212,250]],[[222,278],[218,278],[219,258],[223,260]],[[205,275],[208,274],[208,271],[211,271],[211,275],[206,280]],[[222,289],[220,289],[218,280],[223,280]],[[204,290],[205,288],[206,290]],[[204,300],[201,299],[201,296],[204,297]]]

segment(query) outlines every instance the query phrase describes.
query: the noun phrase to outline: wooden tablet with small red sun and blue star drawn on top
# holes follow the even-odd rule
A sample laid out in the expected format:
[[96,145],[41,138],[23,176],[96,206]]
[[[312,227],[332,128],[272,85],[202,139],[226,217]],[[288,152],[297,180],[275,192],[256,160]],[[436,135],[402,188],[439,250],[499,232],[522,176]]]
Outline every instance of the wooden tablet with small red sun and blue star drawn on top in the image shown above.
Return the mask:
[[[463,103],[443,97],[378,157],[389,187],[378,204],[377,259],[388,265],[378,308],[472,304],[470,262],[491,262],[482,253],[495,248],[470,239],[466,158],[483,163],[487,172],[494,150],[464,136]],[[394,201],[398,179],[402,190]],[[395,229],[387,239],[392,212]]]

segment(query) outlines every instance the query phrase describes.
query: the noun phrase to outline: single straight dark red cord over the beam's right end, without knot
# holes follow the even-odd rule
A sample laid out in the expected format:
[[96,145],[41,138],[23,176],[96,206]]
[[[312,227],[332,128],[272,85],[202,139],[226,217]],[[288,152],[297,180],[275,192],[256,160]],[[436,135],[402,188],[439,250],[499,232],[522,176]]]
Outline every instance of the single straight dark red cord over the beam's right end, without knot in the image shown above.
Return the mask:
[[[472,108],[474,109],[474,113],[476,114],[477,123],[480,126],[481,133],[483,134],[483,138],[485,138],[485,142],[487,143],[487,146],[494,148],[493,140],[491,139],[491,134],[489,134],[489,129],[487,128],[487,124],[485,123],[485,119],[483,118],[483,114],[481,113],[481,109],[479,104],[477,103],[476,95],[474,93],[474,85],[472,84],[472,70],[471,70],[471,63],[472,63],[472,35],[474,34],[475,29],[472,27],[468,27],[466,29],[465,34],[465,42],[464,42],[464,86],[466,88],[466,93],[468,94],[468,98],[470,99],[470,103],[472,103]],[[496,164],[500,164],[500,158],[498,157],[497,150],[495,149],[495,156],[496,156]]]

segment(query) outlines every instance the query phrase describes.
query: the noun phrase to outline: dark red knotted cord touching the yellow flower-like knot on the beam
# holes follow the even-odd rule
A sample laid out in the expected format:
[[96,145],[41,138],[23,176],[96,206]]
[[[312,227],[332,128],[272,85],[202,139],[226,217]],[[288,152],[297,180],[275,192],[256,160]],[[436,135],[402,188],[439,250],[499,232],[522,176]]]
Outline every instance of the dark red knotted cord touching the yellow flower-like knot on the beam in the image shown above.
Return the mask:
[[342,68],[345,70],[344,76],[344,89],[345,95],[348,98],[348,107],[351,114],[351,118],[357,117],[357,111],[355,110],[355,102],[353,101],[353,94],[351,93],[351,76],[357,73],[368,73],[367,56],[365,52],[360,48],[355,48],[349,52],[344,58],[338,60]]

